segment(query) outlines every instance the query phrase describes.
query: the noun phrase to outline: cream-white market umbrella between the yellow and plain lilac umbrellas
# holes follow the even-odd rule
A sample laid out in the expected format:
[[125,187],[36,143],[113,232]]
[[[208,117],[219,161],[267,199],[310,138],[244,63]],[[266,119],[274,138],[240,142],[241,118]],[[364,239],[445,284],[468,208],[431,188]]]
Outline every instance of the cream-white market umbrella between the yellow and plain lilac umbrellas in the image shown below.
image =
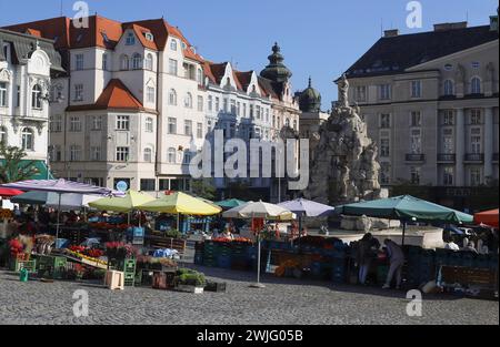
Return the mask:
[[263,218],[277,221],[291,221],[297,218],[297,215],[291,211],[263,202],[249,202],[224,212],[222,216],[226,218]]

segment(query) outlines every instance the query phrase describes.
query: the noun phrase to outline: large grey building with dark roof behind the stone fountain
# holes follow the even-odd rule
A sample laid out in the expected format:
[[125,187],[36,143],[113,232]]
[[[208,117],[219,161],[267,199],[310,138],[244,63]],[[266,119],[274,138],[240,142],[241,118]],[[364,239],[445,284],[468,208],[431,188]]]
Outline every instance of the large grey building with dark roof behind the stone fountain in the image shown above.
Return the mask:
[[379,146],[382,185],[432,186],[460,208],[479,186],[498,185],[498,52],[492,17],[490,25],[386,31],[347,70],[350,102]]

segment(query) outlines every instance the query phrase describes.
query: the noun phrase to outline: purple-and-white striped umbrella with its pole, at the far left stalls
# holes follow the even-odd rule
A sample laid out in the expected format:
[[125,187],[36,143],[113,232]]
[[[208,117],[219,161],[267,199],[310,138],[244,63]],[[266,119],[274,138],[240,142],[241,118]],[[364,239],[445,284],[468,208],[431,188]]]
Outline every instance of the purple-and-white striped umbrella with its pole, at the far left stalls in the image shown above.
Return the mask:
[[[100,186],[90,184],[71,182],[66,180],[33,180],[22,181],[16,183],[8,183],[0,185],[7,188],[14,188],[20,191],[38,191],[38,192],[51,192],[59,194],[59,208],[58,208],[58,223],[56,227],[56,239],[59,238],[59,213],[61,206],[62,194],[89,194],[89,195],[124,195],[122,192],[108,190]],[[56,245],[57,246],[57,245]]]

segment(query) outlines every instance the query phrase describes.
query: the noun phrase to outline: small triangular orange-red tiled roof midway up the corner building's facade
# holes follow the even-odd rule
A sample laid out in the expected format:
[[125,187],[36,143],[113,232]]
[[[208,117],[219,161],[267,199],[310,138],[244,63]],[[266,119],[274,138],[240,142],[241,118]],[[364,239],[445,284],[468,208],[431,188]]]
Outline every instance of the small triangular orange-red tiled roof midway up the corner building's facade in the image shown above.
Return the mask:
[[84,110],[133,110],[143,111],[141,102],[133,96],[129,89],[119,80],[109,81],[94,104],[68,106],[67,111],[84,111]]

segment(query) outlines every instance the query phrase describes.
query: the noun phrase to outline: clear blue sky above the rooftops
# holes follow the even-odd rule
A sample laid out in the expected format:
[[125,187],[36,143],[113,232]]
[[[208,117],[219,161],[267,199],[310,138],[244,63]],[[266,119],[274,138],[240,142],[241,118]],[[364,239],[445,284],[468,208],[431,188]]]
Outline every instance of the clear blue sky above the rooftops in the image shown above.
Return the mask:
[[[278,42],[292,71],[293,90],[308,78],[322,94],[322,109],[337,100],[333,80],[381,37],[382,29],[401,33],[432,30],[434,23],[489,23],[498,0],[420,0],[422,28],[408,28],[408,0],[89,0],[90,14],[118,21],[163,17],[179,27],[206,59],[230,61],[238,70],[260,72]],[[73,0],[62,13],[73,17]],[[61,0],[0,0],[0,27],[61,13]]]

